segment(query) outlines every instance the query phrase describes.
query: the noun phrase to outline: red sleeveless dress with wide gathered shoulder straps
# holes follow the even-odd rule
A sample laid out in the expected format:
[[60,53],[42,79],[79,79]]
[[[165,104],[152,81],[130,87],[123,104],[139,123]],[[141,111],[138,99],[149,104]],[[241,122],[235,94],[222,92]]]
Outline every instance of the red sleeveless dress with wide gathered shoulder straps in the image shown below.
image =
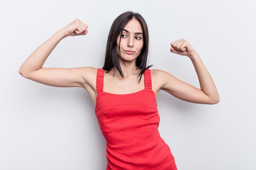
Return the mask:
[[107,142],[107,170],[177,170],[158,132],[150,70],[144,72],[145,89],[132,94],[103,92],[103,78],[98,69],[95,114]]

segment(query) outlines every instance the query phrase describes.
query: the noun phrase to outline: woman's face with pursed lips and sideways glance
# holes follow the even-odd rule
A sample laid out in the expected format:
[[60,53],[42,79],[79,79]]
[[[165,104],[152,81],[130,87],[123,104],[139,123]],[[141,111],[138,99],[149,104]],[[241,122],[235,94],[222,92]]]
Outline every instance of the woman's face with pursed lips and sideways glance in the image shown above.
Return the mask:
[[[143,47],[143,30],[138,20],[130,20],[117,38],[117,52],[124,61],[136,61]],[[120,42],[120,44],[119,44]],[[119,56],[120,57],[120,56]]]

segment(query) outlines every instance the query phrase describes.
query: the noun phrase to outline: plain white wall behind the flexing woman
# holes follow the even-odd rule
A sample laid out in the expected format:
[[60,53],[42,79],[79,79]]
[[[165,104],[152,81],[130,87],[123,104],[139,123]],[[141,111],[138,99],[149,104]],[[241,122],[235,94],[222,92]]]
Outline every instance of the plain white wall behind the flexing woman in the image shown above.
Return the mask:
[[105,139],[86,91],[35,83],[18,68],[76,18],[89,33],[61,41],[44,66],[101,68],[113,20],[134,11],[148,24],[148,65],[199,87],[191,61],[169,51],[172,41],[187,39],[220,94],[216,105],[159,94],[159,131],[178,170],[255,170],[255,9],[252,0],[1,1],[0,169],[106,169]]

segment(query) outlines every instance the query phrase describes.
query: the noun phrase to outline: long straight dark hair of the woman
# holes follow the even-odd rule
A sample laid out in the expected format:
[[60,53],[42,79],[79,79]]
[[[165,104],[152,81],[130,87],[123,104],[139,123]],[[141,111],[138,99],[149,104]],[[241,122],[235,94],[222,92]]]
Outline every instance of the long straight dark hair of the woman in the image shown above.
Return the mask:
[[[107,72],[109,72],[113,67],[115,67],[117,68],[120,75],[124,77],[124,74],[121,70],[120,63],[119,63],[120,54],[118,54],[117,52],[117,38],[118,36],[120,36],[120,41],[121,41],[120,33],[121,31],[123,31],[126,24],[132,19],[138,20],[143,30],[143,47],[141,49],[139,56],[136,59],[136,66],[138,67],[138,69],[141,69],[141,72],[138,75],[140,76],[139,78],[139,81],[140,81],[142,74],[144,74],[145,70],[150,68],[152,65],[149,65],[148,67],[146,67],[147,58],[148,58],[148,41],[149,41],[148,26],[144,18],[139,13],[133,13],[131,11],[127,11],[119,15],[114,20],[110,28],[110,32],[108,34],[108,42],[106,46],[106,54],[105,54],[105,62],[103,65],[103,70],[106,70]],[[120,47],[119,47],[119,52],[120,52]],[[120,58],[122,60],[121,56]]]

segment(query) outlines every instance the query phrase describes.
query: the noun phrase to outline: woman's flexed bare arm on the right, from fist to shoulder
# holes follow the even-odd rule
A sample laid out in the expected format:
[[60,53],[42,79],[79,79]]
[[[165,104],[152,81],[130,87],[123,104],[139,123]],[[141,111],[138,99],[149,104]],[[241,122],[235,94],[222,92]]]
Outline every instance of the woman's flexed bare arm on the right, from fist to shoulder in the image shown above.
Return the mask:
[[209,74],[204,63],[200,59],[199,54],[185,39],[180,39],[171,43],[171,52],[187,56],[191,59],[196,74],[198,75],[200,89],[184,83],[175,78],[171,74],[164,73],[162,78],[165,78],[165,83],[161,89],[173,94],[182,100],[202,104],[216,104],[220,101],[217,88]]

